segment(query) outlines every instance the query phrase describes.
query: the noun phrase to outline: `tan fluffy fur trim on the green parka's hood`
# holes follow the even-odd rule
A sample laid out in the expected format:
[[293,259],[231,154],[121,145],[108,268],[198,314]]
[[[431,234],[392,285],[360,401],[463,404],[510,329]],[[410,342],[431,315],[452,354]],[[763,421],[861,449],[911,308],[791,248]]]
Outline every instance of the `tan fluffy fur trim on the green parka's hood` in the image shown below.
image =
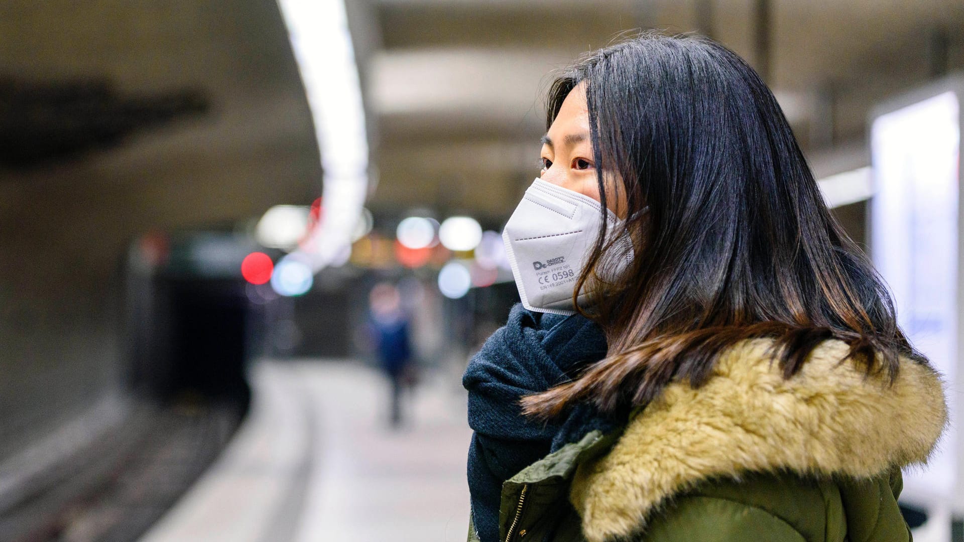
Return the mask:
[[947,423],[932,368],[901,359],[888,388],[886,377],[842,364],[846,344],[827,340],[785,380],[771,344],[738,344],[699,390],[670,385],[607,455],[579,467],[570,499],[590,542],[645,527],[660,503],[712,476],[868,477],[927,459]]

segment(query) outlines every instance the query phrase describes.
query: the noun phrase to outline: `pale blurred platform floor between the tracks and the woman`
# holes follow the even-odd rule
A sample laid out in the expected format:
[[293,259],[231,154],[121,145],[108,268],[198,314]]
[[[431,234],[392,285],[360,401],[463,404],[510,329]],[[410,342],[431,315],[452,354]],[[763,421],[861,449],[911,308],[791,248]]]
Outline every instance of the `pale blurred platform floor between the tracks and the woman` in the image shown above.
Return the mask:
[[142,542],[466,539],[461,371],[422,377],[388,427],[388,384],[349,362],[264,361],[228,448]]

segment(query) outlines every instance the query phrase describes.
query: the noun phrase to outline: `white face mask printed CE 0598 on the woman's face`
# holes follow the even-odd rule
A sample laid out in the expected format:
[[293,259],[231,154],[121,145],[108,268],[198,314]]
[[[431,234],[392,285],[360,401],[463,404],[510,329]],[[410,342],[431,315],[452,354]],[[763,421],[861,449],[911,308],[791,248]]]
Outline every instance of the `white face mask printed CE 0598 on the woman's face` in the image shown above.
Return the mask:
[[[502,231],[522,305],[529,311],[573,314],[573,289],[599,235],[602,205],[592,198],[536,178]],[[606,209],[606,241],[622,220]],[[618,249],[617,273],[632,260],[629,239]],[[586,293],[579,292],[582,306]]]

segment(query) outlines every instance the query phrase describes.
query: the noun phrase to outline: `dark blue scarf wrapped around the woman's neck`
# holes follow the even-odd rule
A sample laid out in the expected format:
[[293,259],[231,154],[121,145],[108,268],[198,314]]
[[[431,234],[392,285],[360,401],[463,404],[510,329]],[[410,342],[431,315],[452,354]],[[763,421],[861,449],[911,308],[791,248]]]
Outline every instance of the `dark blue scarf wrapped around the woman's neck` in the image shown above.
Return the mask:
[[606,341],[594,322],[574,314],[513,307],[509,321],[486,340],[462,379],[469,390],[469,493],[482,542],[498,540],[502,483],[525,467],[594,429],[617,425],[589,405],[564,420],[522,418],[519,399],[570,380],[578,369],[603,359]]

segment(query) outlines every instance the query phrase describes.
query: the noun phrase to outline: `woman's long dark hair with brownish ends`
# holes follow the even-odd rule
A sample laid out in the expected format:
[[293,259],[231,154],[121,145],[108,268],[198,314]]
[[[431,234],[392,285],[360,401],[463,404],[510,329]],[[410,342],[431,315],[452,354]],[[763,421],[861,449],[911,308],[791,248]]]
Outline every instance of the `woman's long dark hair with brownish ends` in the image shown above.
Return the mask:
[[603,207],[607,184],[626,191],[635,258],[619,279],[600,279],[613,276],[600,271],[616,238],[600,231],[574,294],[592,286],[586,315],[608,355],[523,398],[525,413],[550,418],[584,400],[613,411],[674,380],[699,387],[742,339],[775,339],[787,378],[824,339],[846,341],[848,357],[892,381],[900,355],[924,362],[827,209],[776,98],[736,53],[654,33],[605,47],[552,84],[547,126],[580,83]]

